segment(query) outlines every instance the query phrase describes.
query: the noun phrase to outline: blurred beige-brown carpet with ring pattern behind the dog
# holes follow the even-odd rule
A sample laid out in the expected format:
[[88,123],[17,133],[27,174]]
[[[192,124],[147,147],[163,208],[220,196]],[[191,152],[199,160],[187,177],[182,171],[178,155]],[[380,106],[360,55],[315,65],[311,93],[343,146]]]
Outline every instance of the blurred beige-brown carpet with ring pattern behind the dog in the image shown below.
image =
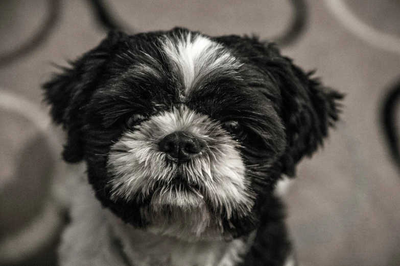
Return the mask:
[[0,1],[0,265],[56,265],[63,188],[79,170],[61,160],[63,134],[40,85],[55,64],[105,37],[93,3],[114,19],[108,26],[128,32],[179,25],[271,40],[301,11],[304,26],[283,54],[346,98],[342,121],[300,163],[285,196],[300,265],[400,265],[400,176],[381,124],[387,94],[400,83],[400,1],[308,0],[305,10],[298,2]]

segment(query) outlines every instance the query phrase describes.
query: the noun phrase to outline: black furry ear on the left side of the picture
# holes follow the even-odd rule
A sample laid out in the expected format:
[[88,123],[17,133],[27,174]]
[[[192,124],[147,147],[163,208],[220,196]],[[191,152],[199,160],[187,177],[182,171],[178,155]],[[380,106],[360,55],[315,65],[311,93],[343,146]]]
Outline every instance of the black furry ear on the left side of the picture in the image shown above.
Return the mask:
[[96,48],[86,52],[70,68],[63,68],[51,81],[43,84],[45,101],[51,105],[51,116],[62,124],[67,132],[63,157],[66,162],[76,163],[84,156],[82,148],[83,107],[97,87],[98,79],[118,44],[127,35],[111,32]]

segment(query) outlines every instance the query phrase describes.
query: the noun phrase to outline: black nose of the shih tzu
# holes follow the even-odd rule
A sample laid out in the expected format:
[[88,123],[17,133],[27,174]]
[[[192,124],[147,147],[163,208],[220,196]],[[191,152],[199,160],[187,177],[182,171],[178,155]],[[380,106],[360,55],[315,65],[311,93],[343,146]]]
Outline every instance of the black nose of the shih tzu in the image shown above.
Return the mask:
[[160,150],[167,153],[167,158],[174,162],[188,161],[201,150],[198,139],[182,131],[173,132],[165,136],[160,144]]

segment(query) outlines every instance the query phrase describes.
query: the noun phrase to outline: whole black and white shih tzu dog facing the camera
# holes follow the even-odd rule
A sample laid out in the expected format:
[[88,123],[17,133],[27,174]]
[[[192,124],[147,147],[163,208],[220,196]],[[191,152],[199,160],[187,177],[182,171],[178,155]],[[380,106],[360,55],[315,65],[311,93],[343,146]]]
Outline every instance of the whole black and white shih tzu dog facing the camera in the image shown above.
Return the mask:
[[342,96],[275,45],[113,32],[43,88],[91,184],[74,192],[62,265],[295,264],[275,187]]

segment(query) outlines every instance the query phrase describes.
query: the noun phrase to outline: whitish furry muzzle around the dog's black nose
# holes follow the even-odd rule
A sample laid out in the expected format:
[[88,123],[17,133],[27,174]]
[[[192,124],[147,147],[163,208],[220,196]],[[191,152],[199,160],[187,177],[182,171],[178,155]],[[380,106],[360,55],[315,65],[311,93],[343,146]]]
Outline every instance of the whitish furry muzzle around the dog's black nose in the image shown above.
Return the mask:
[[[161,139],[175,131],[189,132],[205,143],[202,151],[186,164],[168,162],[166,154],[159,150]],[[191,208],[207,201],[215,209],[224,210],[228,218],[233,213],[248,214],[253,194],[237,148],[238,143],[207,116],[184,105],[163,112],[142,122],[134,131],[127,131],[111,147],[108,171],[114,176],[110,180],[113,196],[140,200],[154,192],[158,197],[152,199],[155,208],[163,204]],[[168,196],[157,191],[157,181],[168,182],[177,175],[198,185],[201,194],[181,199],[184,194],[179,191],[165,191],[170,193]]]

